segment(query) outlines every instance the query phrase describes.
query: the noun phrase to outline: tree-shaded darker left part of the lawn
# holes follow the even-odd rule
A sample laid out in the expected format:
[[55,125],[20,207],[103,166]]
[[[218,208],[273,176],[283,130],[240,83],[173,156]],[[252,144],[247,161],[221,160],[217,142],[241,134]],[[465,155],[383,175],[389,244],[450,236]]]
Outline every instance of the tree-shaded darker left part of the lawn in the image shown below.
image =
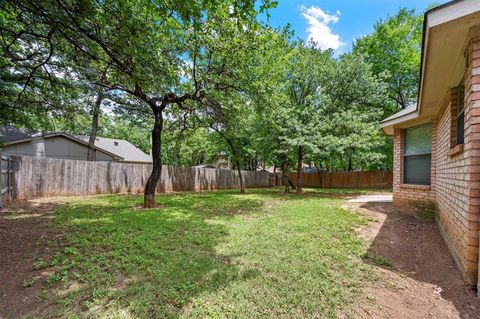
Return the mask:
[[132,209],[138,196],[72,201],[57,210],[67,240],[50,282],[62,315],[175,317],[203,293],[256,271],[219,255],[224,224],[258,208],[228,193],[158,196],[156,209]]

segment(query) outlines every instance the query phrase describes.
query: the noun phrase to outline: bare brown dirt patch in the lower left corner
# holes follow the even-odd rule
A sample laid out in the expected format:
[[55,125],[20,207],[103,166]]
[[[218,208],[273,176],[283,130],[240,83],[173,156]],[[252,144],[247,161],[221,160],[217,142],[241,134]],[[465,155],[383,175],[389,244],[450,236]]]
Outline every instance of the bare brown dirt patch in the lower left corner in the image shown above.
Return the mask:
[[60,247],[58,203],[16,201],[0,211],[0,318],[37,317],[52,305],[39,298]]

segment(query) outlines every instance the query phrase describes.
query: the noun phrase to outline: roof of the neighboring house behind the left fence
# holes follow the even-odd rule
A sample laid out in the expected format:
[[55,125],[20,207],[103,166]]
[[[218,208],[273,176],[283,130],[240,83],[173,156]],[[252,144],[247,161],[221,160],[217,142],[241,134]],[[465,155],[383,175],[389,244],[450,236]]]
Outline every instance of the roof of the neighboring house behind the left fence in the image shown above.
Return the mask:
[[[0,140],[6,145],[27,142],[37,138],[63,136],[76,143],[88,146],[89,136],[73,135],[66,132],[38,132],[30,129],[0,126]],[[97,137],[95,149],[124,162],[150,163],[151,157],[126,140]]]

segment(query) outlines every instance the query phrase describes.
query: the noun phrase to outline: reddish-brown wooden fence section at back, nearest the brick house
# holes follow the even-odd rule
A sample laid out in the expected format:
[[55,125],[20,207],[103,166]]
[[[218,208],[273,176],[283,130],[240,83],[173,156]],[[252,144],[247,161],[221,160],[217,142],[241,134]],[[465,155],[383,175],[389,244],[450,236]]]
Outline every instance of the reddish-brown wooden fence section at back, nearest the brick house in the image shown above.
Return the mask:
[[[378,172],[317,172],[302,173],[304,187],[322,188],[392,188],[393,174],[391,171]],[[293,183],[297,173],[289,173]]]

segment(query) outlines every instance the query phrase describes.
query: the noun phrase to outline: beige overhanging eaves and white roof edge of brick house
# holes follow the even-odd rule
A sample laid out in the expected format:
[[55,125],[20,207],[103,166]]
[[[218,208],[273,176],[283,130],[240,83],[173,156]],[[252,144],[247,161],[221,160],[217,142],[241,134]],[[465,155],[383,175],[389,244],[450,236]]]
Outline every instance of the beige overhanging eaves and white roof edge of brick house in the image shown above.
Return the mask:
[[382,130],[393,134],[393,126],[415,120],[426,113],[428,117],[439,107],[442,94],[458,83],[454,75],[461,67],[465,38],[472,26],[479,24],[480,1],[455,0],[437,6],[425,13],[420,64],[420,82],[416,105],[384,119]]

